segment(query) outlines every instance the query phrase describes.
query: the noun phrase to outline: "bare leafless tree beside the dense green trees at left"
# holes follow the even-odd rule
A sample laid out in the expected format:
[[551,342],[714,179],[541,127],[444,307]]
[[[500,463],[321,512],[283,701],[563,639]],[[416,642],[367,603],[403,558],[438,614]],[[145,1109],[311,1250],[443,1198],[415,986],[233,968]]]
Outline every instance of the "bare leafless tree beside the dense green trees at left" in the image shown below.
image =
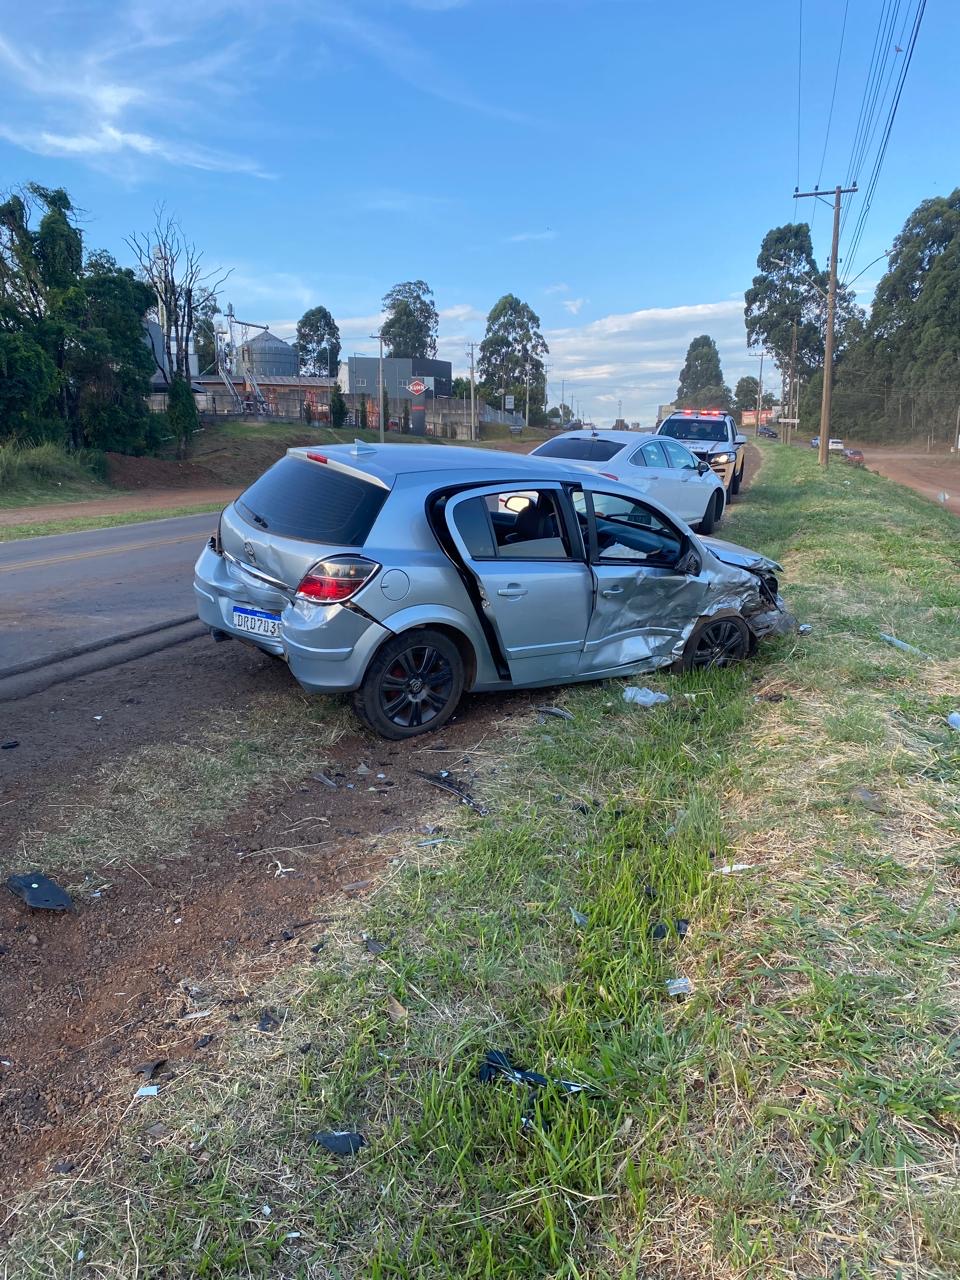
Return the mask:
[[183,228],[164,205],[154,210],[154,227],[134,232],[127,243],[137,256],[140,271],[156,294],[156,320],[164,344],[164,361],[156,352],[157,369],[165,381],[189,381],[189,346],[195,317],[212,302],[229,271],[204,269],[204,253],[183,234]]

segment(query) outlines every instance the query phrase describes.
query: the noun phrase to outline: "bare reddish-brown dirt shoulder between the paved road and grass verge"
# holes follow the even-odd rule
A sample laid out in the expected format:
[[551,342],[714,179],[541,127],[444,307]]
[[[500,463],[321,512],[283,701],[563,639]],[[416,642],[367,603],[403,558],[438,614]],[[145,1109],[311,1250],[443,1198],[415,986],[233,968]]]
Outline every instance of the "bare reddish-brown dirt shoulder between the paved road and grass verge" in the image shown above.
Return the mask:
[[[183,681],[188,650],[201,671]],[[227,664],[198,640],[177,657],[155,654],[5,707],[5,732],[13,712],[10,730],[28,735],[3,760],[5,846],[15,849],[24,829],[56,829],[59,804],[88,799],[82,782],[61,780],[83,777],[100,735],[87,714],[93,705],[110,726],[96,755],[109,759],[108,744],[125,754],[138,741],[189,740],[218,703],[242,704],[275,682],[288,686],[279,663],[239,653]],[[172,664],[179,682],[170,678]],[[177,859],[63,876],[72,887],[82,881],[76,913],[31,911],[0,892],[0,1188],[22,1189],[58,1162],[81,1165],[123,1108],[140,1105],[132,1100],[141,1062],[166,1059],[169,1070],[182,1070],[196,1055],[215,1053],[230,1023],[255,1027],[261,1005],[247,995],[256,979],[244,974],[253,965],[308,959],[308,946],[323,936],[324,902],[342,900],[344,886],[375,879],[392,832],[416,831],[434,810],[442,820],[456,804],[413,771],[449,768],[470,782],[470,749],[535,696],[544,695],[467,699],[439,735],[408,744],[344,737],[323,753],[321,768],[337,790],[311,774],[285,780],[218,829],[195,831]],[[362,777],[361,762],[370,769]],[[311,820],[301,827],[302,819]],[[310,840],[329,844],[293,849]],[[285,850],[276,856],[291,872],[278,873],[274,849]],[[184,1018],[207,1009],[209,1016]],[[214,1041],[195,1047],[207,1034]],[[164,1076],[156,1083],[163,1088]]]

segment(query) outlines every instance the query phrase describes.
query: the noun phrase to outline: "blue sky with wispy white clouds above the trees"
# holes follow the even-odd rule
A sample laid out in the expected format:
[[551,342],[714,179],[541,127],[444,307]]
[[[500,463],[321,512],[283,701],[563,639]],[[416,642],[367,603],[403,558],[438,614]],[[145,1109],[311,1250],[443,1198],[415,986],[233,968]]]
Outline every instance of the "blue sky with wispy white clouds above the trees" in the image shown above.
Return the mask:
[[[824,157],[845,0],[803,0],[801,189],[845,178],[878,20],[905,44],[915,3],[849,0]],[[164,201],[232,269],[224,303],[284,335],[323,303],[347,352],[424,278],[463,369],[513,292],[552,402],[564,379],[595,421],[622,399],[650,422],[696,334],[731,385],[756,372],[742,293],[795,218],[799,19],[800,0],[38,0],[0,29],[0,186],[65,186],[120,261]],[[929,0],[852,274],[960,183],[957,47],[960,5]],[[814,243],[826,261],[823,207]]]

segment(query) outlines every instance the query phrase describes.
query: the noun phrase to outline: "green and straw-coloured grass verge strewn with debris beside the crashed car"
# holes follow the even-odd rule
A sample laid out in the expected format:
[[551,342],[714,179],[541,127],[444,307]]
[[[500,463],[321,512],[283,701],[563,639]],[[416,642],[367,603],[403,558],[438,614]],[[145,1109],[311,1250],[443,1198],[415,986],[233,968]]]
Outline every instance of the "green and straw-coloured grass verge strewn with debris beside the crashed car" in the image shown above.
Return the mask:
[[[726,534],[785,563],[810,637],[652,678],[652,710],[611,682],[504,721],[457,765],[489,817],[422,847],[411,815],[372,900],[262,989],[269,1047],[228,1033],[154,1105],[166,1137],[125,1120],[37,1196],[10,1274],[956,1275],[960,530],[774,445]],[[118,847],[143,806],[114,805]],[[590,1089],[481,1084],[490,1048]],[[352,1126],[353,1160],[310,1142]]]

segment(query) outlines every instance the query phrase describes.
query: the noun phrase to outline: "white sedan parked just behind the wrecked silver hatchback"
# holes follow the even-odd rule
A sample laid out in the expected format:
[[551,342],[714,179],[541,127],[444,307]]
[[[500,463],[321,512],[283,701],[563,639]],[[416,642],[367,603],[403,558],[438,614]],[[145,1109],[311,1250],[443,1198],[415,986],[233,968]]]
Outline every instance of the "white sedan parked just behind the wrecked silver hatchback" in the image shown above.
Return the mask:
[[641,431],[564,431],[532,451],[567,458],[649,494],[687,525],[709,534],[723,515],[723,481],[678,440]]

